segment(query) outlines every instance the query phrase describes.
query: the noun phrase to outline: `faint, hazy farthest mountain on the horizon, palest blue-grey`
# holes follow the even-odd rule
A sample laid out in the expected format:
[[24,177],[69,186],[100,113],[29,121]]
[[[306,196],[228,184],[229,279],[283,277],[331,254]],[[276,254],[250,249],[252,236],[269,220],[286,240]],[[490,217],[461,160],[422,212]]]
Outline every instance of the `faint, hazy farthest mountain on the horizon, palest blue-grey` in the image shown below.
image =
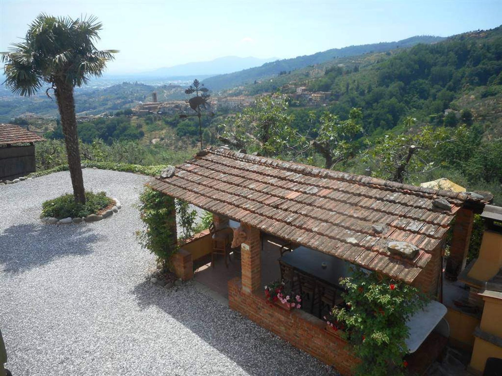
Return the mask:
[[277,58],[259,59],[249,56],[247,58],[239,58],[238,56],[224,56],[210,61],[199,61],[175,65],[173,67],[159,68],[154,71],[138,73],[137,77],[193,77],[197,78],[204,75],[214,76],[219,74],[231,73],[258,67],[264,63],[277,60]]

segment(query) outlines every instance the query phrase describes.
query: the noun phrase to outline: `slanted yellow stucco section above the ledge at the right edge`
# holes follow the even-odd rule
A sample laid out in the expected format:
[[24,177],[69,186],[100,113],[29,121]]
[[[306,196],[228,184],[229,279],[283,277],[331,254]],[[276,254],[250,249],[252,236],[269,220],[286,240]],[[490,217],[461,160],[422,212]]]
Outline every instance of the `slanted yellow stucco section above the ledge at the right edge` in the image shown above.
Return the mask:
[[502,267],[502,234],[485,230],[479,256],[467,277],[487,281]]

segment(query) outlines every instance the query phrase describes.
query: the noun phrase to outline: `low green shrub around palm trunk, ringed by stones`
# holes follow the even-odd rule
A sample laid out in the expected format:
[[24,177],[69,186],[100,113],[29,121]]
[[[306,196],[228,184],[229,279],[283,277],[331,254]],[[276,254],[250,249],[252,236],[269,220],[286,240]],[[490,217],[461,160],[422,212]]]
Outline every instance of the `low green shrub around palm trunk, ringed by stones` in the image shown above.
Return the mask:
[[41,217],[54,217],[57,219],[85,217],[89,214],[96,214],[113,203],[113,200],[106,197],[104,192],[97,194],[86,192],[85,200],[83,205],[76,203],[72,194],[48,200],[42,204]]

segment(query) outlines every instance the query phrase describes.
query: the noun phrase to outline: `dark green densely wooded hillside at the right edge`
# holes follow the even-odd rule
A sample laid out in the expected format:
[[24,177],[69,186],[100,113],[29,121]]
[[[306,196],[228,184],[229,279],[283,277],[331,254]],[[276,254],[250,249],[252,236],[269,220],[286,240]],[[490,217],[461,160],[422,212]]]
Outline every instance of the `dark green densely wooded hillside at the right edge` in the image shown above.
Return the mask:
[[[357,69],[354,69],[356,68]],[[394,128],[408,115],[425,123],[454,126],[468,110],[490,134],[502,135],[502,27],[420,44],[375,63],[346,64],[310,80],[312,91],[330,91],[329,110],[364,114],[367,134]]]

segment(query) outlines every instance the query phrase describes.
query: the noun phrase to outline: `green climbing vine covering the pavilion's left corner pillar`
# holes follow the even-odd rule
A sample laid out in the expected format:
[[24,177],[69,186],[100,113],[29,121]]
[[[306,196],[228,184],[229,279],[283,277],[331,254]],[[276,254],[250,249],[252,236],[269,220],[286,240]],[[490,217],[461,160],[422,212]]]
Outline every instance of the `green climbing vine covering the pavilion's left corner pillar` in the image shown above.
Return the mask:
[[178,250],[177,234],[172,233],[176,221],[174,198],[146,187],[138,209],[144,223],[143,231],[137,232],[138,241],[157,256],[164,268],[169,267],[171,256]]

